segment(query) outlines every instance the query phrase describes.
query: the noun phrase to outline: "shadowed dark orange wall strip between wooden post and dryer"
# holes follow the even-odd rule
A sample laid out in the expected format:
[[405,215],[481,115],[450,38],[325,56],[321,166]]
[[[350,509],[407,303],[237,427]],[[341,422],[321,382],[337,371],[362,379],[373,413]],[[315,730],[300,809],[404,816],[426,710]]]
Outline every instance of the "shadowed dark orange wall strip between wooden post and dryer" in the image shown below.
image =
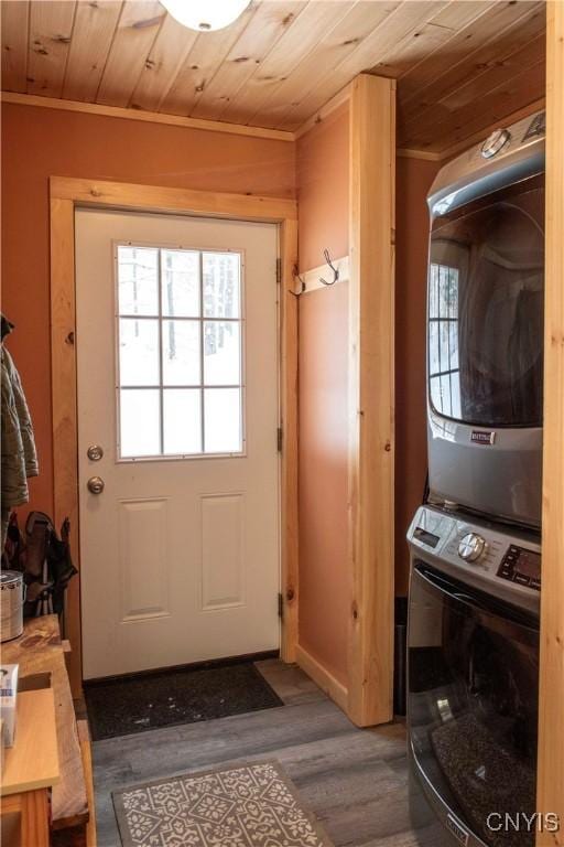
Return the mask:
[[395,221],[395,593],[406,594],[405,533],[427,472],[425,314],[429,250],[426,194],[436,162],[398,158]]

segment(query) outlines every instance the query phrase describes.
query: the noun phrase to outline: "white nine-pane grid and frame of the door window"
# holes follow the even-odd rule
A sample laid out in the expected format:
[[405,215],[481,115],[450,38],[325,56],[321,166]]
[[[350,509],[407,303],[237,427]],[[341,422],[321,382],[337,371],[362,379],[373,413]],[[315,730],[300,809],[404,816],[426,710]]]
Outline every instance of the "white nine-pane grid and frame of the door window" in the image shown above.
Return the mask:
[[[232,250],[227,248],[194,248],[183,245],[170,245],[170,244],[154,244],[154,243],[141,243],[141,242],[116,242],[115,245],[115,302],[116,302],[116,409],[117,409],[117,461],[118,462],[140,462],[140,461],[167,461],[178,459],[209,459],[209,458],[225,458],[225,457],[243,457],[246,454],[246,382],[245,382],[245,255],[242,250]],[[150,250],[156,254],[156,289],[158,289],[158,308],[151,313],[132,313],[121,312],[120,310],[120,248],[126,249],[139,249]],[[176,315],[167,314],[163,311],[164,299],[164,276],[163,276],[163,262],[162,257],[164,253],[186,253],[196,254],[198,256],[198,314],[194,315]],[[238,317],[212,317],[205,314],[205,298],[204,298],[204,257],[210,255],[219,256],[237,256],[238,257]],[[154,385],[133,385],[121,384],[120,375],[120,321],[148,321],[158,323],[158,362],[159,362],[159,379]],[[163,363],[163,326],[170,322],[182,322],[186,324],[193,324],[198,326],[199,334],[199,378],[195,382],[187,383],[171,383],[163,382],[164,363]],[[238,371],[239,379],[236,383],[206,383],[204,379],[205,373],[205,331],[206,324],[232,324],[239,329],[239,361]],[[206,398],[207,392],[215,392],[219,389],[227,389],[238,392],[238,405],[239,405],[239,444],[237,450],[213,450],[206,451]],[[159,452],[140,453],[139,455],[126,454],[122,455],[122,433],[121,433],[121,393],[122,392],[158,392],[159,393]],[[167,393],[181,390],[194,390],[199,395],[199,433],[200,433],[200,449],[197,451],[176,451],[164,452],[164,399]],[[212,396],[212,395],[210,395]]]

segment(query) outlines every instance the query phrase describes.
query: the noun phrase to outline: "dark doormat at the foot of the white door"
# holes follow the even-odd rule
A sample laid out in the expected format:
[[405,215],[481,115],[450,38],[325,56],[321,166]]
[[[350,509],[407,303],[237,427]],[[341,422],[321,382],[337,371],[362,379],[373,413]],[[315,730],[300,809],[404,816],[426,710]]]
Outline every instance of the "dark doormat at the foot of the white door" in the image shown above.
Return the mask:
[[84,693],[94,741],[283,706],[248,661],[85,683]]

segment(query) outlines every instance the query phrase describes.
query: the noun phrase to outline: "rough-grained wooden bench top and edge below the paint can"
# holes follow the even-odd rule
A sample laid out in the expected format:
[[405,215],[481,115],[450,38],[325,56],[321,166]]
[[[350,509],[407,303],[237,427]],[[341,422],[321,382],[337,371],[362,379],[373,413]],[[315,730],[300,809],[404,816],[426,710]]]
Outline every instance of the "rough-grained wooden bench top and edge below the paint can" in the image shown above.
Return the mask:
[[52,828],[85,827],[89,812],[83,752],[57,617],[26,620],[22,635],[2,644],[2,664],[19,664],[20,677],[51,675],[61,771],[61,780],[53,786]]

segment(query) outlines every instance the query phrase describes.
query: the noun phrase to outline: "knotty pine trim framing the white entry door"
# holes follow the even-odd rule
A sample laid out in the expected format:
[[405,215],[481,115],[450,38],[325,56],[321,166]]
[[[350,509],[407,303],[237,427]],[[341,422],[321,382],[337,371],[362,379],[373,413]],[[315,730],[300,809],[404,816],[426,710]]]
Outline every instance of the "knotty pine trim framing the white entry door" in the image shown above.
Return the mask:
[[[78,415],[76,390],[75,235],[77,205],[275,223],[281,258],[281,591],[283,622],[281,656],[295,660],[297,643],[297,303],[292,271],[297,261],[295,201],[246,194],[221,194],[102,180],[52,176],[51,219],[51,349],[53,398],[53,496],[58,525],[68,516],[72,547],[79,567]],[[79,575],[72,580],[66,607],[73,691],[82,688]]]

